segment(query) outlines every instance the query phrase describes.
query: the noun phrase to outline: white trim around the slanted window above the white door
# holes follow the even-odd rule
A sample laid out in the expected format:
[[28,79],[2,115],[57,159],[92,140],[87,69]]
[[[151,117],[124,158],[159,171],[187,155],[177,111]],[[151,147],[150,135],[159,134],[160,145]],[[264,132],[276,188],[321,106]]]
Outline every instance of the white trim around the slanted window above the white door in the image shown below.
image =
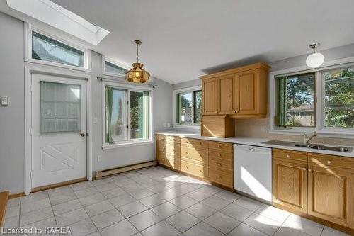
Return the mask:
[[[57,40],[60,43],[64,43],[65,45],[68,45],[70,47],[74,47],[77,50],[80,50],[84,52],[84,67],[75,67],[69,64],[62,64],[59,62],[50,62],[50,61],[45,61],[45,60],[37,60],[32,58],[32,33],[33,31],[40,33],[41,35],[45,35],[48,38],[51,38],[53,40]],[[72,42],[69,42],[68,40],[64,40],[63,38],[60,38],[57,35],[52,35],[51,33],[47,33],[45,30],[41,30],[39,28],[36,28],[35,26],[32,26],[28,23],[25,23],[25,62],[32,62],[36,64],[45,64],[49,66],[54,66],[54,67],[62,67],[66,69],[74,69],[74,70],[80,70],[84,72],[91,72],[91,50],[86,47],[81,47],[79,45],[76,45]]]

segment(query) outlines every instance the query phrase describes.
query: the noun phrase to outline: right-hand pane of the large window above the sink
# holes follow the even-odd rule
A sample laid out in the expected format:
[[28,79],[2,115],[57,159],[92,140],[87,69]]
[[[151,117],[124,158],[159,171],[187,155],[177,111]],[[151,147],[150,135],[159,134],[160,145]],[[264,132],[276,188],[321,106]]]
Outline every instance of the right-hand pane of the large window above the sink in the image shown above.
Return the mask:
[[324,127],[354,128],[354,68],[323,72]]

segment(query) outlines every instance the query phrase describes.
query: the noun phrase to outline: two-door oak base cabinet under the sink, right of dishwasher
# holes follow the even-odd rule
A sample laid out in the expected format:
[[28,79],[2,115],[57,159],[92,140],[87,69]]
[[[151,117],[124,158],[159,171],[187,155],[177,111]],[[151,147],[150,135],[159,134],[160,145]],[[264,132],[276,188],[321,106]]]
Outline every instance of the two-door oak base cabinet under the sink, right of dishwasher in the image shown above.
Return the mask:
[[273,203],[354,229],[354,159],[273,149]]

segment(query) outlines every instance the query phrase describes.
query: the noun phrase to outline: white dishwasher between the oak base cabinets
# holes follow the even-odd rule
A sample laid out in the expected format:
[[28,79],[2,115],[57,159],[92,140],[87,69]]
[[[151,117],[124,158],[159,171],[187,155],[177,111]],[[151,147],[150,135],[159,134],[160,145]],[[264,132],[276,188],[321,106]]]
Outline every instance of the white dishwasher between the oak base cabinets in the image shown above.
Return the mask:
[[234,189],[272,201],[272,149],[234,145]]

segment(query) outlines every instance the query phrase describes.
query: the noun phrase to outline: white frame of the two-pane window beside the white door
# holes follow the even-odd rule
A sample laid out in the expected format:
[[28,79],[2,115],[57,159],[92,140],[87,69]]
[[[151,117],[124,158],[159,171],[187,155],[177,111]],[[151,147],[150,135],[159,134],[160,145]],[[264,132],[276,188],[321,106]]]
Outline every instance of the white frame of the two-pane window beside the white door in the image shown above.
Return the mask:
[[[135,139],[130,140],[130,104],[129,108],[127,108],[127,125],[129,128],[127,130],[127,140],[122,140],[119,142],[114,142],[113,144],[105,142],[105,87],[112,86],[116,89],[125,89],[127,90],[127,101],[130,101],[130,91],[148,91],[149,92],[149,137],[147,139]],[[152,140],[152,134],[154,133],[153,125],[152,125],[152,98],[153,98],[153,89],[147,86],[137,86],[137,85],[130,85],[130,84],[122,84],[119,82],[102,82],[102,149],[107,150],[115,147],[129,147],[135,145],[144,145],[154,142]],[[126,104],[128,106],[128,104]]]

